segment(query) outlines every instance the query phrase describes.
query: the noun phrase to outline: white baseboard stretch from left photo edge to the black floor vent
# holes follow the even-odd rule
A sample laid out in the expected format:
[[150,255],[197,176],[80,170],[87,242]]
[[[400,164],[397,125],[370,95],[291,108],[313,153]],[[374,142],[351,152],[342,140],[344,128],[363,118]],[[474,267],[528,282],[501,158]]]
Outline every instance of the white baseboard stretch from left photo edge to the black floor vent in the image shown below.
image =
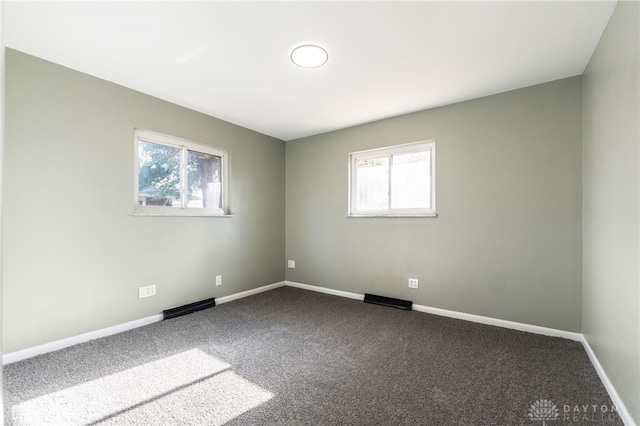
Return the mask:
[[45,343],[43,345],[34,346],[31,348],[23,349],[21,351],[10,352],[8,354],[2,355],[2,365],[22,361],[23,359],[27,359],[27,358],[33,358],[36,355],[46,354],[48,352],[53,352],[60,349],[68,348],[69,346],[88,342],[89,340],[99,339],[100,337],[111,336],[113,334],[122,333],[123,331],[153,324],[154,322],[159,322],[159,321],[162,321],[162,314],[152,315],[146,318],[140,318],[135,321],[125,322],[124,324],[114,325],[113,327],[107,327],[107,328],[102,328],[96,331],[90,331],[88,333],[80,334],[78,336],[68,337],[62,340],[56,340],[55,342]]

